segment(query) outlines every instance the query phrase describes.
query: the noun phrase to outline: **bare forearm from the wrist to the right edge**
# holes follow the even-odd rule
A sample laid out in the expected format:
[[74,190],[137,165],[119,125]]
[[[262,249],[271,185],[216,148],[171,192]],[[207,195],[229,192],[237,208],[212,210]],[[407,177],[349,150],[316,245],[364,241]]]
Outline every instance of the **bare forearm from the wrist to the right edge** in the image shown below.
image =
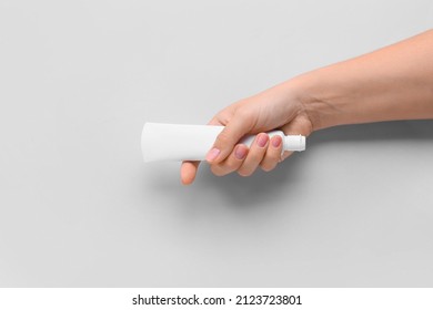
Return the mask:
[[433,30],[286,83],[313,130],[433,118]]

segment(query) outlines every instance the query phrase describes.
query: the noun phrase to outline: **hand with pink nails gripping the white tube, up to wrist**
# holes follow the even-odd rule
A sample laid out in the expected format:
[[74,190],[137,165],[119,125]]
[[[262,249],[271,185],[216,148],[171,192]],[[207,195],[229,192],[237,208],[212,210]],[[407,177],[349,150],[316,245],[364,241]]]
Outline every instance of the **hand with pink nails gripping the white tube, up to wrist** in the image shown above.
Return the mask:
[[[259,166],[270,172],[291,155],[292,152],[284,152],[281,156],[282,138],[274,136],[270,140],[264,132],[280,128],[286,135],[311,134],[312,122],[288,83],[229,105],[209,122],[209,125],[225,126],[207,155],[214,175],[238,172],[241,176],[250,176]],[[238,144],[245,134],[258,134],[250,148]],[[194,180],[199,163],[182,163],[183,184]]]

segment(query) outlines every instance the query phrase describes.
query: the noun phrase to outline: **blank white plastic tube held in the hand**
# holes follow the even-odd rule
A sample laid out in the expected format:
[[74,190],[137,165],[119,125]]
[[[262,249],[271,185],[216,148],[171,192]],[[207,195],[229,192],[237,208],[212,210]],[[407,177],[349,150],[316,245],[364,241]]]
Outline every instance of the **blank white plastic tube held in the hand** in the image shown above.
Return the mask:
[[[141,149],[145,163],[157,161],[204,161],[209,149],[224,126],[180,125],[145,123],[141,134]],[[280,135],[284,151],[304,151],[305,137],[285,136],[281,131],[268,133]],[[240,143],[250,146],[255,135],[245,136]]]

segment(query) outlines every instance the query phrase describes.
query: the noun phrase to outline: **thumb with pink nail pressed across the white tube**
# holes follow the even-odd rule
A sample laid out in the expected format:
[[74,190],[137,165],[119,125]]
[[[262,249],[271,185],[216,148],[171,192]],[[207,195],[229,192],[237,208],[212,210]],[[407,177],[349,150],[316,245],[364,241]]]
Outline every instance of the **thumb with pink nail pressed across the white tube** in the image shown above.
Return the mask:
[[224,161],[232,153],[236,143],[252,130],[252,123],[249,117],[233,115],[222,132],[216,136],[213,147],[207,155],[207,161],[210,164],[218,164]]

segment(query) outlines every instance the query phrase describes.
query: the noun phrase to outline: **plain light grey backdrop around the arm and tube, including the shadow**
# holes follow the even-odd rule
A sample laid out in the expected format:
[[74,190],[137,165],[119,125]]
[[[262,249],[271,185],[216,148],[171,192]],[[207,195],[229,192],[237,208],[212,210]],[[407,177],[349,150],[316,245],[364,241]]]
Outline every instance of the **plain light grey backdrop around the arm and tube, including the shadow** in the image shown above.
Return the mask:
[[433,286],[433,122],[331,128],[191,187],[140,151],[145,121],[204,124],[432,7],[0,0],[0,286]]

